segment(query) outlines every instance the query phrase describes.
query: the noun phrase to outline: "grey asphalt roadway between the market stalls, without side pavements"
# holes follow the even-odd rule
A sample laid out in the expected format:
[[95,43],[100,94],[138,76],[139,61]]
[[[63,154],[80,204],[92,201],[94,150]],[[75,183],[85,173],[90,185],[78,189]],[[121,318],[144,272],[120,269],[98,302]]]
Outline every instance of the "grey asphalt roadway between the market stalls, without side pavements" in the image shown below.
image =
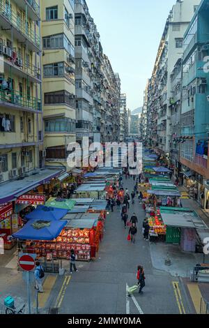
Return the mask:
[[[133,179],[124,179],[124,185],[131,192]],[[130,314],[139,314],[140,309],[143,313],[180,313],[173,288],[173,282],[180,286],[180,281],[167,272],[153,268],[149,243],[141,235],[145,215],[138,200],[134,205],[130,204],[129,218],[134,212],[139,218],[136,244],[127,241],[128,228],[123,228],[120,212],[115,210],[110,213],[97,260],[80,262],[77,265],[79,272],[72,274],[68,285],[65,277],[58,279],[50,298],[51,306],[60,304],[61,313],[69,314],[124,314],[128,313],[129,306]],[[134,294],[136,306],[130,297],[126,297],[126,284],[132,286],[136,283],[138,264],[144,265],[146,287],[144,295]],[[69,271],[66,274],[69,275]],[[180,293],[183,307],[188,313],[183,292]]]

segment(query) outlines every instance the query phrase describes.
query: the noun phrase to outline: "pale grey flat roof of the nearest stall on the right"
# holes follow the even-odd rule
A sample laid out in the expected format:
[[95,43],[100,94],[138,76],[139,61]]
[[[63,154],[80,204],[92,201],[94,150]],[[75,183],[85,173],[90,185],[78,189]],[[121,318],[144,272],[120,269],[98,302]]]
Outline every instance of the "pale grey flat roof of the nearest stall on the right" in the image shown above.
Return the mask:
[[165,225],[170,227],[178,227],[178,228],[207,228],[206,224],[203,223],[199,216],[196,216],[189,212],[184,213],[161,213],[162,220]]

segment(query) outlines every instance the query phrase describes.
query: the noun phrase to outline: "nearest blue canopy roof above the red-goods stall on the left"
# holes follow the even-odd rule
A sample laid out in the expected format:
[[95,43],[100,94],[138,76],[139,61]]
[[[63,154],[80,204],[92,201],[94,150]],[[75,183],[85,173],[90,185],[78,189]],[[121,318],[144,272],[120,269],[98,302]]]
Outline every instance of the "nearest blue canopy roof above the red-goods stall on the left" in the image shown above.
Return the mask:
[[[45,222],[43,228],[35,228],[34,225],[40,224],[42,221]],[[30,220],[24,227],[15,232],[13,237],[17,239],[31,239],[31,240],[53,240],[59,236],[61,230],[65,227],[68,221],[54,221],[54,220]],[[49,226],[47,226],[49,224]]]

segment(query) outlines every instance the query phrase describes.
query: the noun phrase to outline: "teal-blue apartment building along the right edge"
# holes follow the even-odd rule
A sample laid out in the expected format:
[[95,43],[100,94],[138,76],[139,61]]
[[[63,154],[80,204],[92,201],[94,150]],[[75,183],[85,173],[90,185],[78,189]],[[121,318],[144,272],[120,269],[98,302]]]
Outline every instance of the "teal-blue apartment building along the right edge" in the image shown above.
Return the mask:
[[209,211],[209,1],[203,0],[184,36],[180,163],[184,183]]

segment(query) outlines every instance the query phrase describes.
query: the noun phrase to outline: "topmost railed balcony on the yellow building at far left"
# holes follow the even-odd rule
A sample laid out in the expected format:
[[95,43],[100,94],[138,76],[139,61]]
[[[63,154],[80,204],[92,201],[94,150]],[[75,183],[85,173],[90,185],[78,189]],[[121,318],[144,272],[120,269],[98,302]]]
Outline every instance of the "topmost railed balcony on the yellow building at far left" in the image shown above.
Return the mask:
[[0,18],[1,29],[10,30],[13,27],[13,38],[18,39],[20,43],[25,43],[27,40],[28,50],[40,51],[40,37],[29,29],[17,13],[14,13],[8,5],[2,2],[0,3]]

